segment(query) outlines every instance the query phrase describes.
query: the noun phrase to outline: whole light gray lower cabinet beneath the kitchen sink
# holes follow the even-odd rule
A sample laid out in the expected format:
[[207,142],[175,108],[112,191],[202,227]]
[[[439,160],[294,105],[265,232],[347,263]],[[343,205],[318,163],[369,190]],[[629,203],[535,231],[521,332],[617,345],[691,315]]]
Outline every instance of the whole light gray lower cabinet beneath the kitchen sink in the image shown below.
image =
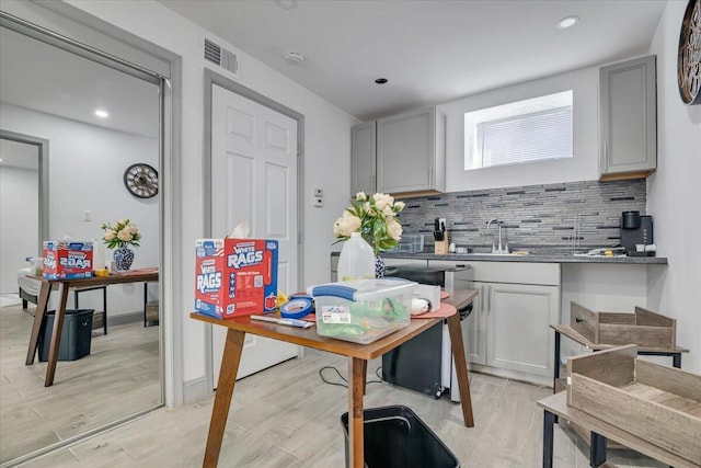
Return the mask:
[[[429,260],[428,265],[455,262]],[[473,368],[549,385],[554,359],[551,324],[560,320],[556,263],[459,262],[473,269],[479,292],[466,341]]]

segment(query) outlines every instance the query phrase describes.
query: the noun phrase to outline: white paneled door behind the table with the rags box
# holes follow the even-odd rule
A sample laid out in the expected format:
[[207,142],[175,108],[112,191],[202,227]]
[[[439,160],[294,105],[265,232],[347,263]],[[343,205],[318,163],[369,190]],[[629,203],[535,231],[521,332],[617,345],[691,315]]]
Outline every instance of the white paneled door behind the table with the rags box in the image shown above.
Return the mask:
[[[297,190],[303,186],[303,116],[211,70],[205,70],[205,90],[204,186],[211,187],[205,195],[207,233],[223,237],[238,222],[246,221],[251,237],[277,239],[281,259],[278,290],[295,293],[303,281],[297,229],[303,219]],[[211,388],[216,387],[226,334],[218,329],[208,327]],[[239,377],[301,353],[296,346],[273,349],[260,339],[245,346],[269,347],[262,352],[269,358],[246,362],[244,353]]]

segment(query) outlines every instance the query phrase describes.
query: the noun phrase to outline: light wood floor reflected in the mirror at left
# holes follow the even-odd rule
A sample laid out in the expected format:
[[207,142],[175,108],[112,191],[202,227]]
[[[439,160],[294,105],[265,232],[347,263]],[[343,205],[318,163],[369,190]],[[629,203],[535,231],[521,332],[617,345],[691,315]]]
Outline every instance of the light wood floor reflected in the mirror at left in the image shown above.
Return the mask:
[[59,361],[54,386],[44,387],[47,364],[38,354],[24,364],[34,320],[27,311],[0,308],[0,464],[160,403],[158,327],[93,330],[90,355]]

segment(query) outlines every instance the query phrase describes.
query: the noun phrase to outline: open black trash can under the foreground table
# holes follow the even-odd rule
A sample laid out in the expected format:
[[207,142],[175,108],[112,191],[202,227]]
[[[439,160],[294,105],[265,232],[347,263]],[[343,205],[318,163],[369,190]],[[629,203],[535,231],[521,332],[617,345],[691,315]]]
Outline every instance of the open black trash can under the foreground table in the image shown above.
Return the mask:
[[[456,468],[460,461],[407,407],[370,408],[363,412],[367,468]],[[348,455],[348,413],[341,416]]]

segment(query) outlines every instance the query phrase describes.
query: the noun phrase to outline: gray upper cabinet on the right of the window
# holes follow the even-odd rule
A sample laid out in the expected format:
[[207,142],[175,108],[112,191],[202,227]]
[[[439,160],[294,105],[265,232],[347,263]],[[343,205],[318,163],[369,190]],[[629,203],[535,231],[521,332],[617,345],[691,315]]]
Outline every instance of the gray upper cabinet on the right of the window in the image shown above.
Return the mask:
[[657,168],[655,56],[600,69],[600,180],[645,178]]

